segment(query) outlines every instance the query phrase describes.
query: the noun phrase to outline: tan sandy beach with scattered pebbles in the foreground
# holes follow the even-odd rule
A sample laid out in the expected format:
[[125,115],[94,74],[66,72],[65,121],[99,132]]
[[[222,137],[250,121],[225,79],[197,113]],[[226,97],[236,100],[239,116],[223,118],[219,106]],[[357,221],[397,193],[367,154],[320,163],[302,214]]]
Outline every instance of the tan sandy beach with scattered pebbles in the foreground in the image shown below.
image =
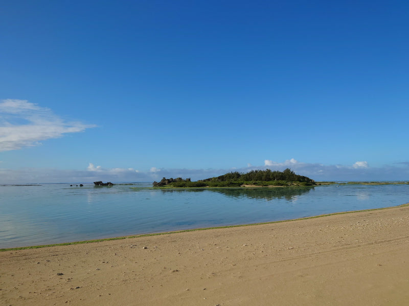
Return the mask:
[[0,304],[405,305],[408,256],[409,206],[4,251]]

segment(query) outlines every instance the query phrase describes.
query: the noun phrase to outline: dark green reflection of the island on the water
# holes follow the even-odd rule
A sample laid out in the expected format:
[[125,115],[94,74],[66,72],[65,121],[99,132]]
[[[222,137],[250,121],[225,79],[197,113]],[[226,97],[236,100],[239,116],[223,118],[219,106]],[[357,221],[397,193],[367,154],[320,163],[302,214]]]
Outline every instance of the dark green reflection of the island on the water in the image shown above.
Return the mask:
[[271,201],[272,199],[295,200],[302,194],[309,193],[314,187],[286,187],[286,188],[192,188],[192,189],[161,189],[163,193],[181,192],[217,192],[232,198],[262,199]]

